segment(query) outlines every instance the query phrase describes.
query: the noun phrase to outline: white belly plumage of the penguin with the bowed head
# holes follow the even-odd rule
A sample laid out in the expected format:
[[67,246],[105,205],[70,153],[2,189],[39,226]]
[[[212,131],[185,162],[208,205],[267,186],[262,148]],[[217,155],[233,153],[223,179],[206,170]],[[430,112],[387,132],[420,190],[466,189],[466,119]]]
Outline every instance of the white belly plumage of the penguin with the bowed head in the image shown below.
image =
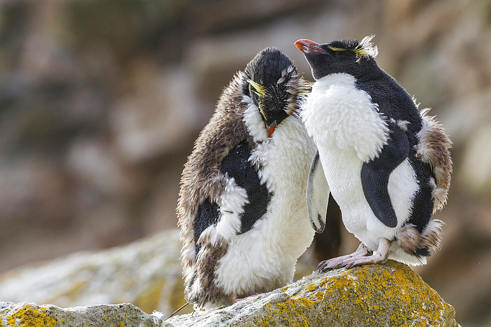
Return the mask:
[[305,203],[313,141],[294,117],[278,125],[268,141],[257,108],[249,109],[246,124],[257,123],[252,136],[260,143],[250,160],[262,164],[259,176],[273,197],[251,230],[230,238],[228,250],[218,262],[218,285],[226,293],[239,295],[270,291],[291,282],[297,259],[314,237]]

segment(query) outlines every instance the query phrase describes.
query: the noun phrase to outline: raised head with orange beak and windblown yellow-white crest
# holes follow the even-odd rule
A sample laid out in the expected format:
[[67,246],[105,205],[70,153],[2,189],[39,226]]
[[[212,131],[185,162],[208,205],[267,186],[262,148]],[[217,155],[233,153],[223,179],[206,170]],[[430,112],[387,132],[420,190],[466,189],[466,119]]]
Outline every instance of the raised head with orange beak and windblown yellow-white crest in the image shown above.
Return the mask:
[[380,71],[375,69],[378,68],[374,59],[378,54],[377,46],[372,46],[370,42],[374,36],[367,36],[361,41],[343,39],[325,44],[302,39],[295,45],[305,55],[315,80],[331,74],[347,73],[362,81],[373,79]]

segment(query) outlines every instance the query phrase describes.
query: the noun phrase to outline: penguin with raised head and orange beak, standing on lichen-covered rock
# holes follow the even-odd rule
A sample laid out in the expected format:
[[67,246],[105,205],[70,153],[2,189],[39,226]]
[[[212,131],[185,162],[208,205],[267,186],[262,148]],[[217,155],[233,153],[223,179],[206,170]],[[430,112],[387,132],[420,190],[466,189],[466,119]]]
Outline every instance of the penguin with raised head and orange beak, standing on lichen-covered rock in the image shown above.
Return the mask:
[[426,264],[440,248],[452,142],[414,98],[378,67],[374,35],[318,44],[298,40],[315,83],[301,118],[318,148],[307,185],[310,222],[325,226],[329,192],[361,244],[322,261],[325,272],[384,263]]

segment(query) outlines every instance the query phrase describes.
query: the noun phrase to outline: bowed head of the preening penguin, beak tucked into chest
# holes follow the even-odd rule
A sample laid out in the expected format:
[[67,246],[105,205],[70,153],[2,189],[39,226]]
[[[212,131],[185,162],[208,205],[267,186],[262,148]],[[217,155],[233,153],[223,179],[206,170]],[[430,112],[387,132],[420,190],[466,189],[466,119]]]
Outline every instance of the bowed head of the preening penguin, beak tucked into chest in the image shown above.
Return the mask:
[[296,110],[309,90],[297,67],[276,48],[260,51],[244,71],[243,93],[259,108],[270,137],[285,118],[298,117]]

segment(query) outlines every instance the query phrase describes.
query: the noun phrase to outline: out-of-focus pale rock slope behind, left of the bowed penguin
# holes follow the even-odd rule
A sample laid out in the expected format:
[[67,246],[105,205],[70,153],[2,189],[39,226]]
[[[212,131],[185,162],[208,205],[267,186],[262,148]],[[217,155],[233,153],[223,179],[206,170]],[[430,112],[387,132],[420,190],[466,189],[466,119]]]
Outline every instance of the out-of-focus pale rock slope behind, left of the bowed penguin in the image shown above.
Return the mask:
[[179,230],[172,229],[122,247],[74,253],[0,275],[0,299],[63,307],[131,302],[169,314],[185,303],[180,251]]

